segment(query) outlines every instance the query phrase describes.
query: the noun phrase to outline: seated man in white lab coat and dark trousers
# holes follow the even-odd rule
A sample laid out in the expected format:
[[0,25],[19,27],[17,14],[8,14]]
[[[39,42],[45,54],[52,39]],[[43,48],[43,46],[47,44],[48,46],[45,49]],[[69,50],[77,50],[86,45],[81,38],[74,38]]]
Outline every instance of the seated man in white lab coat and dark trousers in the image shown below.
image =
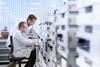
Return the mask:
[[35,42],[26,35],[27,25],[25,22],[18,24],[18,30],[13,34],[13,55],[15,57],[27,57],[28,62],[25,67],[33,67],[36,60],[36,49],[32,50]]

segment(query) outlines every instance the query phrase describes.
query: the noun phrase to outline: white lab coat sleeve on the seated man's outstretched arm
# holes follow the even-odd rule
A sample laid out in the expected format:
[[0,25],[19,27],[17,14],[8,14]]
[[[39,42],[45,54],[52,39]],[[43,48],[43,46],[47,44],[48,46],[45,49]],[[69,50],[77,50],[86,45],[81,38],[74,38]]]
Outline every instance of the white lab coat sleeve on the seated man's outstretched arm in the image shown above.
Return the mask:
[[20,43],[22,43],[22,44],[24,44],[26,46],[28,46],[28,45],[34,45],[35,44],[34,41],[32,41],[31,39],[25,38],[20,32],[14,33],[13,38],[15,38]]

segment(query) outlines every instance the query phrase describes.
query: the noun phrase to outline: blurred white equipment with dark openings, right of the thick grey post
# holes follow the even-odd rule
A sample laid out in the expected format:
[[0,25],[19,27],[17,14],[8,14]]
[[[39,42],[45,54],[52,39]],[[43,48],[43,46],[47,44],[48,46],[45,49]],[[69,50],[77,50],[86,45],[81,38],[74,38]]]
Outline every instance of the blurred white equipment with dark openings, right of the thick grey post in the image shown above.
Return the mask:
[[[87,1],[86,1],[87,2]],[[99,67],[100,66],[100,19],[99,2],[92,2],[79,10],[77,18],[77,51],[79,67]],[[88,9],[87,9],[88,8]],[[82,20],[82,19],[85,20]]]

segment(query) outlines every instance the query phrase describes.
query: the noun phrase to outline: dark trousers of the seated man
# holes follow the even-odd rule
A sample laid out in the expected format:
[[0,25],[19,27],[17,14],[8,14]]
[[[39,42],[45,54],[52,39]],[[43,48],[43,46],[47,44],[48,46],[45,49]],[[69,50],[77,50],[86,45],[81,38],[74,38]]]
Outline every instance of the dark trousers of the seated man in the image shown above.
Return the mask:
[[25,67],[33,67],[36,61],[36,49],[31,51],[30,57],[25,65]]

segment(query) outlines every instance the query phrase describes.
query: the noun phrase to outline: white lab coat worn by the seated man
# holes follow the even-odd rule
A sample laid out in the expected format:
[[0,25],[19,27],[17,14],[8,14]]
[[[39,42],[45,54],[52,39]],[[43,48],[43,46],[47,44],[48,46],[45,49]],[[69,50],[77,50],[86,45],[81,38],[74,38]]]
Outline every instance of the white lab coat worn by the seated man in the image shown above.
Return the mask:
[[13,34],[13,46],[15,57],[29,57],[32,51],[32,45],[35,45],[34,40],[28,39],[24,33],[16,30]]

